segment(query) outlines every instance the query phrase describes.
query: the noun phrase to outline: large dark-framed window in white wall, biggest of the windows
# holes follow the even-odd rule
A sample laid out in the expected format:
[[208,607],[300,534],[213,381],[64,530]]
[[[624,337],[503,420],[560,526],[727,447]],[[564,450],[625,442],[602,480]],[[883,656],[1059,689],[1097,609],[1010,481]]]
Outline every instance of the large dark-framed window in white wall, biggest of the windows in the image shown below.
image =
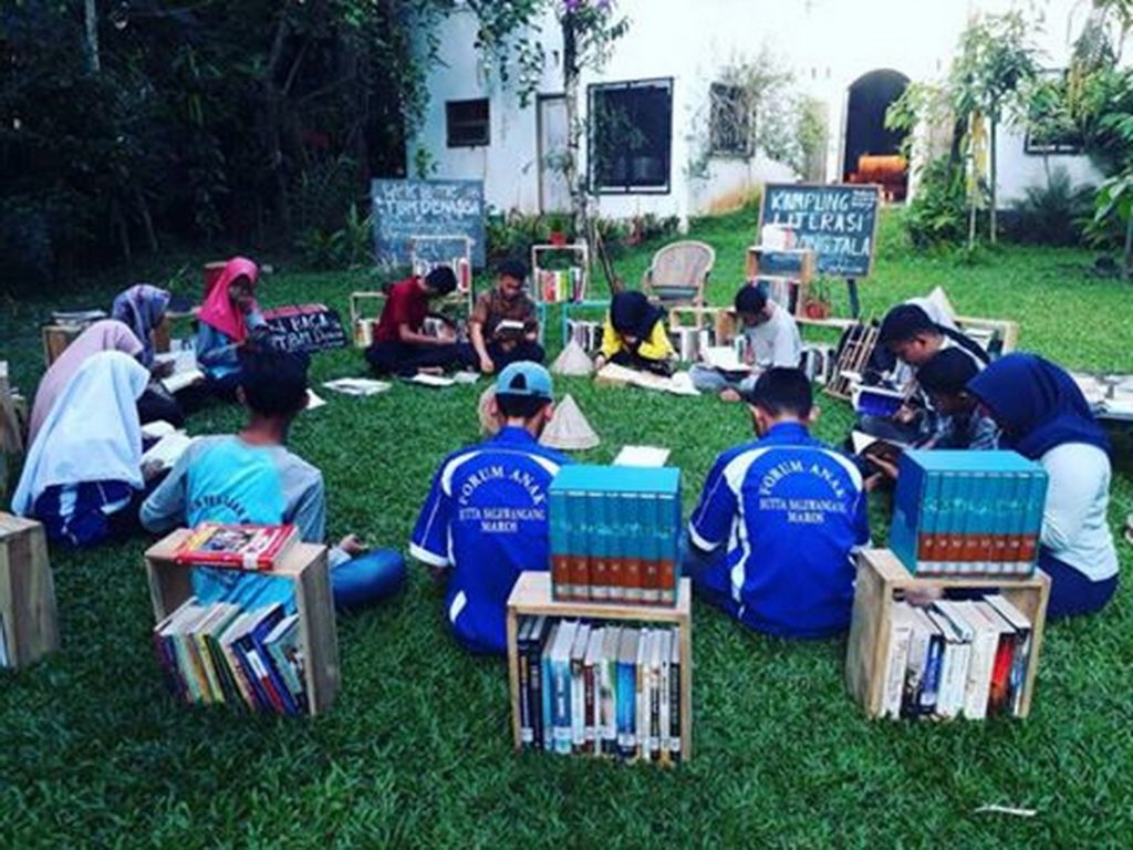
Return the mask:
[[590,188],[598,194],[667,194],[673,80],[589,86]]

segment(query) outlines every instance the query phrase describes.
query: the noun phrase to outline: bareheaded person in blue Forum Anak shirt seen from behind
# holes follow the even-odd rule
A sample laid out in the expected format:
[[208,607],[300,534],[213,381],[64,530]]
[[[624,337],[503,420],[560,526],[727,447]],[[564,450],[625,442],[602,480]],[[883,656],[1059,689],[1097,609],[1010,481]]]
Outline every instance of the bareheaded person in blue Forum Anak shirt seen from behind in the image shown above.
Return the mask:
[[867,495],[847,458],[812,437],[810,382],[772,368],[747,396],[759,440],[723,452],[689,522],[684,571],[744,626],[818,638],[850,624]]

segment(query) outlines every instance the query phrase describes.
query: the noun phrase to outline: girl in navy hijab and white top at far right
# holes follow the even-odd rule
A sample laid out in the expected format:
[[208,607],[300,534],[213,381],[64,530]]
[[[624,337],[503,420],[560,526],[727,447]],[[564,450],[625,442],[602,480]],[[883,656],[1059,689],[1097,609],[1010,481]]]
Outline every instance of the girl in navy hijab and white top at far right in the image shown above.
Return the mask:
[[1030,354],[1003,357],[968,383],[1002,428],[999,445],[1039,461],[1050,484],[1039,567],[1050,576],[1051,618],[1092,613],[1117,590],[1107,522],[1109,441],[1074,380]]

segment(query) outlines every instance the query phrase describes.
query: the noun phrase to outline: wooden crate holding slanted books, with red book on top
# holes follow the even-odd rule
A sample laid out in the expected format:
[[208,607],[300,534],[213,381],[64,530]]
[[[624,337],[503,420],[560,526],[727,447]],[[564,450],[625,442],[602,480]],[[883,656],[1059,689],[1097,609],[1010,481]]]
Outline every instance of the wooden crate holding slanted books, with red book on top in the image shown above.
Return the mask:
[[[191,567],[174,561],[186,528],[171,533],[145,553],[154,622],[161,622],[193,595]],[[299,632],[303,636],[304,677],[312,714],[322,714],[334,702],[341,685],[339,634],[334,622],[331,573],[326,546],[297,543],[283,555],[270,575],[295,585]]]

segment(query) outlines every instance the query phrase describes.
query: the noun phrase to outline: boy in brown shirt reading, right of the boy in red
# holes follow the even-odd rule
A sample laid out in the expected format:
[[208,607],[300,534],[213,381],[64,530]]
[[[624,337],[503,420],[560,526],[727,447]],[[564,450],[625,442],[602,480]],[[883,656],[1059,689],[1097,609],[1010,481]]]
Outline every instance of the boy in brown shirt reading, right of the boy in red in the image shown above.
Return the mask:
[[484,374],[519,360],[543,363],[546,356],[538,342],[535,301],[523,291],[527,266],[509,260],[500,265],[499,274],[496,286],[476,299],[469,320],[469,337]]

